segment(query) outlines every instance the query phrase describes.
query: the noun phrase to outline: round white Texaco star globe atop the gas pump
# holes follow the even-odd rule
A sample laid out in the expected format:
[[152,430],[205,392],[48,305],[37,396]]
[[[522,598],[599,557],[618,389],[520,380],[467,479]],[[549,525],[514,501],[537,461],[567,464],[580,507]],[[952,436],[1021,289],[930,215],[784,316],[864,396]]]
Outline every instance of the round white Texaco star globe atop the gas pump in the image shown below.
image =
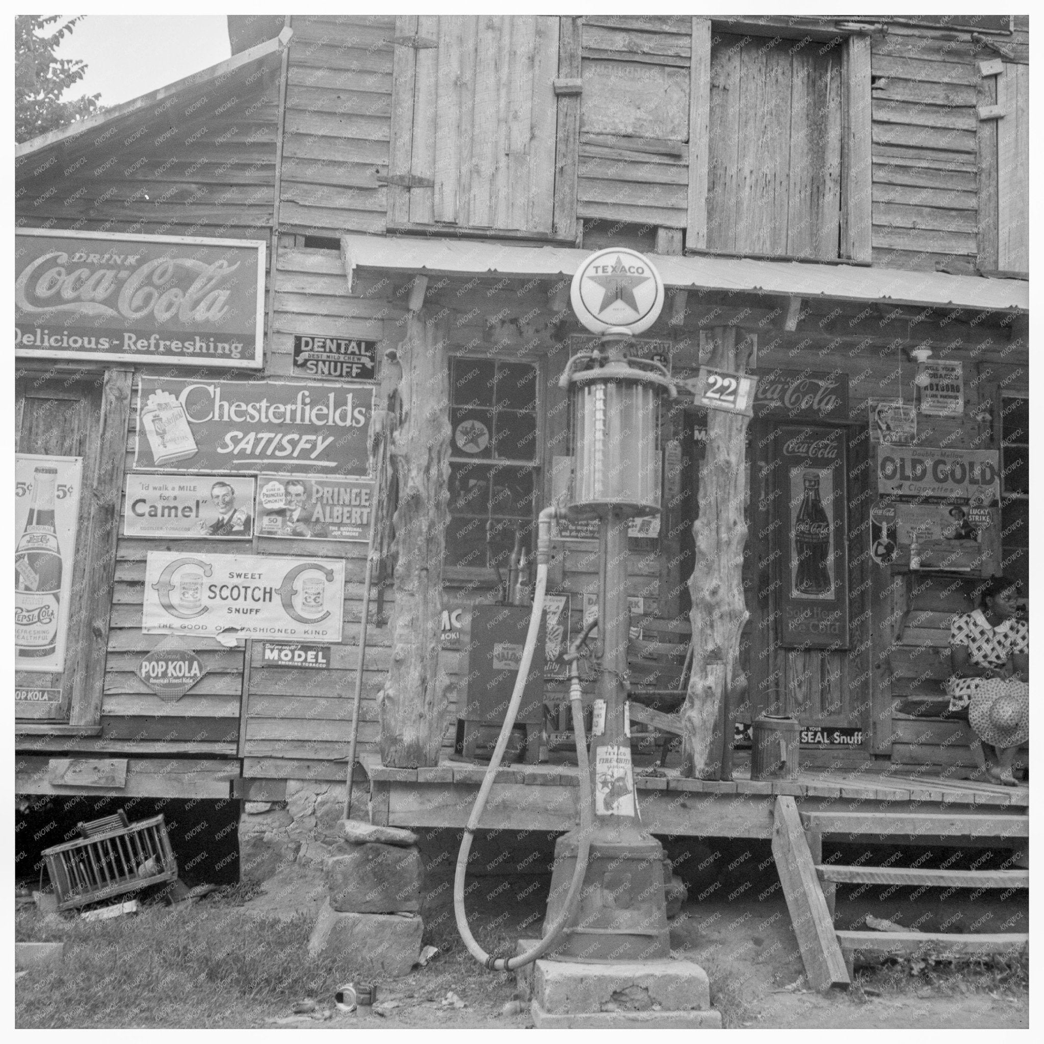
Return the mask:
[[637,334],[652,326],[663,308],[663,281],[648,258],[612,247],[580,265],[571,300],[576,317],[592,333],[622,327]]

